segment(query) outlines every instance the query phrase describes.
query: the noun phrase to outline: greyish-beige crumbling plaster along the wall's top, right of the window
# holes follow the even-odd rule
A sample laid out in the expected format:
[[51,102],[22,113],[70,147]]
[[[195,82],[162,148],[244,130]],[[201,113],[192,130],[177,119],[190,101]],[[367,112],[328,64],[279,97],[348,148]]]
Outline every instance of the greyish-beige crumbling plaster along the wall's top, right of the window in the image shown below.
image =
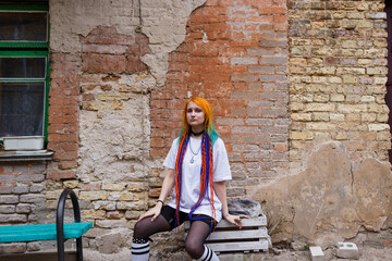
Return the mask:
[[151,50],[142,61],[149,66],[157,85],[162,86],[169,69],[169,53],[184,41],[186,21],[192,11],[205,2],[51,0],[50,49],[53,52],[81,52],[79,36],[86,37],[98,26],[113,26],[124,35],[132,35],[137,29],[149,38]]

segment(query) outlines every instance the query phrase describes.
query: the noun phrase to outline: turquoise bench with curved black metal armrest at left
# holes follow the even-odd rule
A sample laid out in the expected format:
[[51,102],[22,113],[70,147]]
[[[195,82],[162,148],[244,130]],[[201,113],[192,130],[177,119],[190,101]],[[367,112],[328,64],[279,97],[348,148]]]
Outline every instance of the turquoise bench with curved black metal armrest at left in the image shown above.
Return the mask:
[[[70,196],[72,200],[75,222],[64,224],[64,208],[68,196]],[[64,241],[66,239],[76,238],[76,260],[82,261],[82,236],[91,227],[91,222],[81,222],[81,210],[75,192],[71,189],[64,189],[59,199],[56,224],[0,226],[0,243],[57,240],[58,261],[64,261]],[[3,258],[4,256],[0,256],[1,260],[3,260]],[[12,259],[10,258],[9,260]]]

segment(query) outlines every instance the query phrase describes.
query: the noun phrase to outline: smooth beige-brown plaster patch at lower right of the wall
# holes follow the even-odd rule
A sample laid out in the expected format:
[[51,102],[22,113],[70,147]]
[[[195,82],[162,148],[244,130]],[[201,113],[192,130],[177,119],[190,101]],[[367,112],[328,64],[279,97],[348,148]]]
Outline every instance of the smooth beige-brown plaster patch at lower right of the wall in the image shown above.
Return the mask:
[[353,162],[343,142],[315,148],[306,170],[260,188],[274,241],[333,246],[391,226],[392,175],[375,159]]

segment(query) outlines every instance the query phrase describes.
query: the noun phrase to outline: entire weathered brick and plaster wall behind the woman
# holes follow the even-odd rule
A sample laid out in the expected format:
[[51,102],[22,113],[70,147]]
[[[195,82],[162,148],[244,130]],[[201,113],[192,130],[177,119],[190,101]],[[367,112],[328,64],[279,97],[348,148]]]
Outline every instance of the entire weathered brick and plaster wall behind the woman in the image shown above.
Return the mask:
[[[54,156],[1,163],[1,224],[52,222],[72,188],[95,225],[84,241],[98,253],[90,260],[128,254],[182,105],[200,95],[229,151],[229,196],[264,203],[274,243],[331,246],[391,225],[383,1],[49,5]],[[152,259],[186,259],[182,233],[156,236]]]

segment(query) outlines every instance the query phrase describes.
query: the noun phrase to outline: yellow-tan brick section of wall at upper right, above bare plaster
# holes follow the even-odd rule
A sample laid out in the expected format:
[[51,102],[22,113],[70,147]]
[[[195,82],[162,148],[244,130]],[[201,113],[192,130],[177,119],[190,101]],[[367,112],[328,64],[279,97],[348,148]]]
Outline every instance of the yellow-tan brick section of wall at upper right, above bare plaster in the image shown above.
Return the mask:
[[289,1],[290,159],[341,141],[388,161],[383,1]]

